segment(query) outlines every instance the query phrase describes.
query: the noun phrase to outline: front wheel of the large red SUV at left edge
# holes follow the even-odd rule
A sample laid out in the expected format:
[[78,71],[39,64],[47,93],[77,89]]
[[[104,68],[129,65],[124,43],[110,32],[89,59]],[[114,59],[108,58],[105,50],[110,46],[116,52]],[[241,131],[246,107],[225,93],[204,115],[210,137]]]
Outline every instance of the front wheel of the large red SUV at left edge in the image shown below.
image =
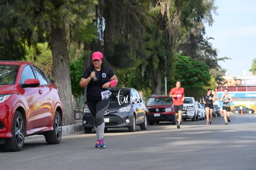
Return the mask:
[[22,114],[15,111],[12,121],[12,138],[8,138],[4,143],[4,148],[9,151],[20,151],[24,145],[25,123]]

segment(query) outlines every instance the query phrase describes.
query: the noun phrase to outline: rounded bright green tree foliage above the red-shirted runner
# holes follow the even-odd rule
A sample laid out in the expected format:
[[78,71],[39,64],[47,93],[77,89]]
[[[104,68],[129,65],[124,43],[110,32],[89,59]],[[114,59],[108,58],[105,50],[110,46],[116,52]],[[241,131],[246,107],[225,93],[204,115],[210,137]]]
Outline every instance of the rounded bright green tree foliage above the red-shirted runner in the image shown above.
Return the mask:
[[177,80],[185,89],[186,96],[194,96],[198,99],[205,93],[205,87],[210,85],[211,75],[205,63],[177,54],[174,79],[170,84],[175,85]]

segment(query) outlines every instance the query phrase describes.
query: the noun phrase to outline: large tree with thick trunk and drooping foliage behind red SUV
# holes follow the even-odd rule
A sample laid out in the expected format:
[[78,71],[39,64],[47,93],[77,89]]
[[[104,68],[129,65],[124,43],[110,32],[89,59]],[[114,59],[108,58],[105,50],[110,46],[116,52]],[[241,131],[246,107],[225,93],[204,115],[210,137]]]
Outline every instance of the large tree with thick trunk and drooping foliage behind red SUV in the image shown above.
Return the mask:
[[78,30],[92,23],[93,15],[88,17],[92,12],[88,8],[90,4],[95,4],[95,1],[28,0],[3,1],[1,4],[0,21],[4,27],[0,30],[0,42],[15,45],[15,49],[5,47],[7,52],[11,54],[11,50],[20,50],[22,57],[25,54],[24,45],[36,47],[38,42],[49,41],[53,56],[54,83],[59,88],[65,125],[75,123],[68,45],[77,40],[75,33]]

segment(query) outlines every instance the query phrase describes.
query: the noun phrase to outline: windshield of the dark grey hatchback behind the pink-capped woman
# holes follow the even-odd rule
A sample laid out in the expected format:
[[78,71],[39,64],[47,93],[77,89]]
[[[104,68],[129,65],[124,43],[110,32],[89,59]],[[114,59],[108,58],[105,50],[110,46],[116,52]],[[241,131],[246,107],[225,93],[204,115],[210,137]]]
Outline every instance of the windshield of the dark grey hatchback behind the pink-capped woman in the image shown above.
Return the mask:
[[110,90],[110,103],[109,106],[121,106],[130,103],[130,91],[129,90]]

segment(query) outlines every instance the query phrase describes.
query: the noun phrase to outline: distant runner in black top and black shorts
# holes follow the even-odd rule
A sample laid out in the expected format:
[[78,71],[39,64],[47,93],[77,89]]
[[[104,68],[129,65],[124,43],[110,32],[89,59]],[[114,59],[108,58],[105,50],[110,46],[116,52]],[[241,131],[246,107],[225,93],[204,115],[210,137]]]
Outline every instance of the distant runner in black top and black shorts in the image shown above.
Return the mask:
[[207,90],[207,94],[206,95],[203,95],[203,103],[205,104],[205,111],[206,111],[206,114],[207,114],[207,125],[211,125],[211,117],[212,117],[212,114],[213,114],[213,98],[214,98],[214,95],[211,94],[211,89],[209,88]]

